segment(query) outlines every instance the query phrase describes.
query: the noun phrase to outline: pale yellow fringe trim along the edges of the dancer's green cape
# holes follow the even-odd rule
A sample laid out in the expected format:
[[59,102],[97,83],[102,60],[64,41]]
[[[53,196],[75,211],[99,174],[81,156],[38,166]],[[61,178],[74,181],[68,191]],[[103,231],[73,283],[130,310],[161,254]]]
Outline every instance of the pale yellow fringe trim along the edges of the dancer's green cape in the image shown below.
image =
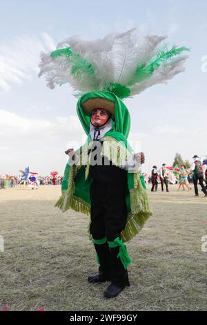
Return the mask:
[[[107,139],[106,139],[107,138]],[[103,142],[101,155],[106,156],[117,167],[121,167],[123,160],[128,160],[132,155],[119,142],[112,137],[106,137]],[[83,146],[81,150],[81,165],[88,161],[88,147]],[[56,203],[63,212],[68,209],[75,210],[90,216],[90,204],[83,201],[83,199],[74,195],[75,183],[74,178],[80,166],[71,166],[68,176],[68,189],[62,191],[62,195]],[[87,164],[86,164],[87,165]],[[146,189],[141,185],[140,171],[133,174],[134,188],[130,189],[130,208],[128,213],[126,227],[121,232],[121,239],[124,242],[130,241],[136,234],[138,234],[144,227],[148,218],[152,215]],[[90,227],[90,223],[89,223]],[[89,229],[88,229],[89,232]],[[89,239],[92,240],[92,235],[89,233]]]

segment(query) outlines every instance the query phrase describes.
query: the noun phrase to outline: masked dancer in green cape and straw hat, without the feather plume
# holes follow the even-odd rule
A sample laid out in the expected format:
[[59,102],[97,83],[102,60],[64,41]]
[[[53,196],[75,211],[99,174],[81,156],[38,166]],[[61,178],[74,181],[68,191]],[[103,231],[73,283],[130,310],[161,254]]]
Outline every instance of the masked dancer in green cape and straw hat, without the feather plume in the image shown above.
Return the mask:
[[70,160],[57,206],[63,211],[72,207],[90,212],[90,235],[99,273],[88,281],[111,281],[104,296],[115,297],[130,285],[130,258],[123,241],[135,236],[151,214],[144,180],[139,176],[144,154],[132,154],[126,140],[130,115],[115,94],[86,93],[77,104],[77,113],[88,141],[76,152],[66,151]]

